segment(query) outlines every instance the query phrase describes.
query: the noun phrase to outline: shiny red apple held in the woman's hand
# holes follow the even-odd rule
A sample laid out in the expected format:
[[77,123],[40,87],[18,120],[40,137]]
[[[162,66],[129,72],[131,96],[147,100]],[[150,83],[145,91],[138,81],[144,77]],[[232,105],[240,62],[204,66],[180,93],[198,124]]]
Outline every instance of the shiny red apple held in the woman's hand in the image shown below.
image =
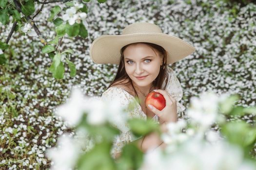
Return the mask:
[[165,107],[165,99],[162,94],[157,92],[150,92],[146,99],[145,103],[148,106],[148,104],[153,105],[158,110],[162,110]]

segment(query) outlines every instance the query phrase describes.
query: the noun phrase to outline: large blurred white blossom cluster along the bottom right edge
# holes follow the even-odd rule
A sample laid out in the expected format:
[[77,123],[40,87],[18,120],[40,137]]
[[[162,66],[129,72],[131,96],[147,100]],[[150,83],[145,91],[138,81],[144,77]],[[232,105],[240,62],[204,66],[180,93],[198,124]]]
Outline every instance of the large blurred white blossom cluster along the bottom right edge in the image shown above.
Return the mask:
[[172,153],[161,149],[146,153],[139,170],[255,170],[243,156],[239,147],[225,141],[210,144],[191,138]]

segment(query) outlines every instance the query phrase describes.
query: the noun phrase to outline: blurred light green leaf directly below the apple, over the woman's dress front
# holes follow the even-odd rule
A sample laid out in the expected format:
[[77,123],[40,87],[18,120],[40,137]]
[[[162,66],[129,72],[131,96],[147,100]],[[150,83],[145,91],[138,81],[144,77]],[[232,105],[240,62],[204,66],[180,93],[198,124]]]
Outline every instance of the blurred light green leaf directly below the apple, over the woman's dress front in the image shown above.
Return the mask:
[[138,118],[129,119],[128,124],[133,134],[137,137],[145,136],[153,131],[160,132],[159,125],[152,119],[146,121]]

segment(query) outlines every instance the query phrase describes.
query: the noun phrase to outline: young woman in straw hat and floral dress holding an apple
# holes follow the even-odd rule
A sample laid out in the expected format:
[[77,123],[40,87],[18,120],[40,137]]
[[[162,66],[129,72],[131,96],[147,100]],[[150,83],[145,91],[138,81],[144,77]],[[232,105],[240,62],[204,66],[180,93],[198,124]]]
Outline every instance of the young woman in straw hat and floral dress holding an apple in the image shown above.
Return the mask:
[[[129,118],[154,119],[162,131],[166,123],[177,121],[177,112],[185,107],[178,101],[182,98],[182,88],[174,70],[167,64],[175,63],[195,51],[187,42],[168,34],[152,23],[128,25],[121,35],[102,35],[94,40],[90,56],[97,64],[118,64],[114,81],[102,94],[103,101],[116,98],[121,105],[128,105],[135,98],[137,106],[128,113]],[[152,90],[162,94],[166,106],[160,111],[145,105],[146,95]],[[183,114],[183,112],[182,112]],[[156,133],[135,138],[124,125],[116,125],[121,130],[112,148],[112,156],[118,158],[126,142],[136,141],[142,152],[158,146],[165,147]]]

